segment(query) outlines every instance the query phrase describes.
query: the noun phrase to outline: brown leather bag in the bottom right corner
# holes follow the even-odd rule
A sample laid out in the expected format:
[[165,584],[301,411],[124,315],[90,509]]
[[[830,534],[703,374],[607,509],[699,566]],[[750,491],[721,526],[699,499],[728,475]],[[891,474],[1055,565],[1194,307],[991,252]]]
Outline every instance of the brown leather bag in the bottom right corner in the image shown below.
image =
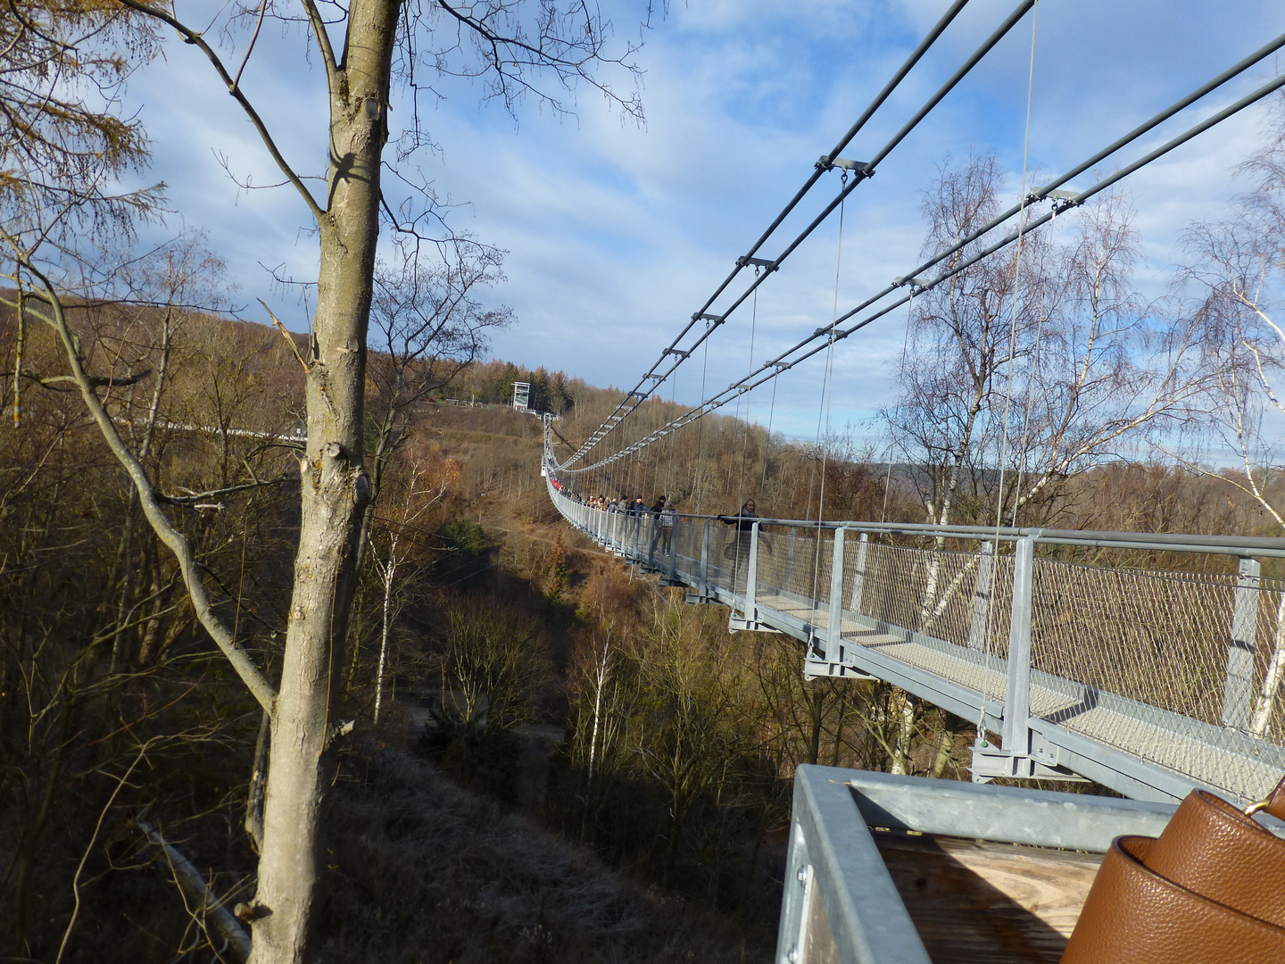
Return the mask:
[[1285,964],[1285,779],[1239,810],[1192,790],[1156,837],[1117,837],[1061,964]]

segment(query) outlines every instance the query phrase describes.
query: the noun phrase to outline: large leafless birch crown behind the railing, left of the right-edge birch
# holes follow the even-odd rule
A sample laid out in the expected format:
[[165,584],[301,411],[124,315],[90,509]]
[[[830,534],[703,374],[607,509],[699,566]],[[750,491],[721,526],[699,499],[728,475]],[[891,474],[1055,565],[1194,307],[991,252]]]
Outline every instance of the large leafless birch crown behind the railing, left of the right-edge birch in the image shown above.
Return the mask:
[[[1002,188],[993,157],[943,167],[923,207],[924,253],[988,220]],[[921,467],[926,521],[1051,512],[1076,472],[1192,418],[1203,325],[1136,294],[1131,219],[1122,195],[1105,194],[1055,221],[1058,234],[1025,235],[915,298],[901,401],[883,419]]]

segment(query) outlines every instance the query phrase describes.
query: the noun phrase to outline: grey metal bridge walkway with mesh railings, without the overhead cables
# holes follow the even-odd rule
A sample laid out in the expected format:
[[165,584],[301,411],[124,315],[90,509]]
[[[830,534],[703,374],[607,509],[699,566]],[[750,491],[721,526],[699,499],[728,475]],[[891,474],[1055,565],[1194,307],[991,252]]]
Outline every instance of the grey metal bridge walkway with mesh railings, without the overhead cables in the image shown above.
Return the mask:
[[[801,640],[810,677],[885,680],[1000,734],[974,747],[975,780],[1081,776],[1139,799],[1205,787],[1249,802],[1285,772],[1285,585],[1255,562],[1285,555],[1285,540],[788,521],[738,535],[676,517],[666,553],[655,517],[549,492],[689,602],[730,607],[734,630]],[[1240,573],[1065,563],[1037,544],[1232,554]]]

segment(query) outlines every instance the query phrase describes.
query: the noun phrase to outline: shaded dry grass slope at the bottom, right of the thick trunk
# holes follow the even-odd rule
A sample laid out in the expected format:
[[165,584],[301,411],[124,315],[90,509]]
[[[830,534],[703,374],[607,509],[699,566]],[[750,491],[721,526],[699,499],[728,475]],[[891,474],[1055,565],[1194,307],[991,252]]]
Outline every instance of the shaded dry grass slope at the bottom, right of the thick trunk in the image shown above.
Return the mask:
[[[389,735],[384,731],[384,735]],[[332,802],[324,961],[766,961],[739,928],[604,869],[392,739],[351,747]]]

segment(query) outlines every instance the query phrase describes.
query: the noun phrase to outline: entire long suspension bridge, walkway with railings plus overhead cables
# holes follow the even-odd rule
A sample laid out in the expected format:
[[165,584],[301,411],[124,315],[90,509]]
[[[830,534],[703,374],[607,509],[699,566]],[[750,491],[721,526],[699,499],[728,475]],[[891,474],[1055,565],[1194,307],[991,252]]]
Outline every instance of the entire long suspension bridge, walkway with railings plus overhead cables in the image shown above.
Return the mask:
[[[1285,540],[824,521],[820,510],[811,521],[756,518],[729,527],[716,517],[664,519],[585,505],[569,495],[596,481],[605,485],[623,468],[622,459],[822,352],[828,414],[838,342],[997,252],[1010,245],[1020,251],[1023,238],[1059,213],[1285,86],[1285,75],[1275,77],[1133,159],[1122,156],[1285,48],[1282,35],[1061,175],[1029,193],[1024,186],[1016,203],[851,310],[839,311],[837,284],[835,311],[826,324],[757,364],[752,350],[749,370],[726,388],[658,428],[628,434],[637,407],[698,348],[708,352],[709,339],[738,308],[753,310],[759,287],[835,212],[842,254],[846,198],[870,183],[1036,0],[1018,3],[891,139],[864,152],[869,161],[842,157],[966,4],[950,5],[637,384],[568,458],[555,458],[546,428],[549,496],[572,526],[664,584],[685,587],[689,602],[729,607],[732,630],[797,639],[810,677],[885,680],[975,722],[977,781],[1088,779],[1142,801],[1181,799],[1192,787],[1258,799],[1285,772],[1285,582],[1262,575],[1263,560],[1285,557]],[[1033,73],[1033,23],[1031,42]],[[1029,140],[1029,109],[1027,125]],[[1086,172],[1096,176],[1104,162],[1115,165],[1112,174],[1087,188],[1067,186]],[[833,172],[838,189],[801,231],[777,240],[783,224]],[[779,253],[765,256],[770,244]],[[738,289],[739,280],[745,284]],[[822,437],[828,433],[819,432]],[[1000,458],[1002,464],[1002,451]],[[1006,513],[997,510],[997,517]],[[671,524],[658,528],[663,519]],[[1085,549],[1192,559],[1217,554],[1235,558],[1237,571],[1090,564],[1079,551]]]

